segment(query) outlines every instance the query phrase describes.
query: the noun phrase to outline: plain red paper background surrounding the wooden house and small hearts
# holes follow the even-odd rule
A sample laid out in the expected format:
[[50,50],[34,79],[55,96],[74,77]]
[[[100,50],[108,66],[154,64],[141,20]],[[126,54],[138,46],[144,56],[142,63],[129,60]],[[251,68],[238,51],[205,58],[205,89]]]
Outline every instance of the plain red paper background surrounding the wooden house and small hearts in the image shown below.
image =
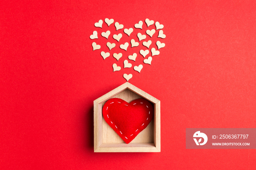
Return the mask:
[[[0,169],[255,168],[255,150],[185,149],[185,128],[255,128],[255,9],[253,0],[2,0]],[[93,100],[125,82],[91,47],[105,18],[165,26],[166,46],[129,81],[161,100],[159,153],[93,152]]]

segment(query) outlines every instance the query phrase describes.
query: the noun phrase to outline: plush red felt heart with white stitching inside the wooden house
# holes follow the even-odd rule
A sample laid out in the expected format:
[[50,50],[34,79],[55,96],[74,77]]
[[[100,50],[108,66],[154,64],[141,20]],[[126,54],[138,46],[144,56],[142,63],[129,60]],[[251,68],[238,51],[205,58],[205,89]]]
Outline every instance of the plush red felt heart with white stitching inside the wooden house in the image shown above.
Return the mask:
[[130,143],[152,120],[154,109],[144,98],[127,103],[121,98],[111,98],[103,106],[105,121],[124,140]]

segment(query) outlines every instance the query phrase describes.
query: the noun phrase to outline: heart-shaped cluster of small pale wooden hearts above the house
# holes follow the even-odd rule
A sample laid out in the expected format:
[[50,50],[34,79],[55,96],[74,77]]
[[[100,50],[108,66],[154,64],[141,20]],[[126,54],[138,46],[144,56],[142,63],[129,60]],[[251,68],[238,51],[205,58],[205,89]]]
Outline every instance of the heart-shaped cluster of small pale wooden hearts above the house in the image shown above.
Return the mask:
[[[143,69],[143,65],[144,64],[151,65],[153,56],[159,55],[160,54],[159,49],[165,47],[165,43],[161,43],[159,41],[166,37],[166,35],[163,34],[163,30],[162,30],[163,25],[160,24],[159,22],[154,22],[153,20],[146,19],[145,23],[147,25],[147,29],[145,32],[138,32],[139,30],[141,31],[143,30],[144,26],[142,21],[139,21],[134,25],[134,27],[136,28],[135,30],[133,28],[124,28],[124,25],[119,24],[118,22],[114,23],[114,19],[106,18],[105,23],[106,23],[106,27],[108,25],[107,27],[108,30],[103,30],[101,32],[93,31],[93,34],[90,35],[90,39],[99,39],[100,36],[98,34],[100,34],[103,38],[107,39],[107,41],[105,42],[102,40],[99,40],[98,42],[95,41],[92,43],[92,46],[93,46],[93,51],[99,50],[99,49],[103,49],[102,43],[105,43],[108,49],[101,51],[100,54],[104,60],[110,57],[110,54],[117,60],[117,63],[113,63],[112,65],[113,72],[120,71],[121,65],[123,64],[123,68],[133,67],[135,71],[140,73],[141,70]],[[103,20],[99,20],[99,22],[94,24],[95,27],[99,27],[99,28],[102,28],[102,25],[103,25]],[[111,33],[113,31],[110,32],[112,26],[115,27],[114,33]],[[113,39],[110,38],[110,35],[113,37]],[[118,46],[120,47],[121,50],[123,50],[123,52],[121,53],[117,52],[117,51],[120,51],[119,48],[117,49]],[[152,47],[152,46],[155,46],[155,47]],[[131,50],[131,48],[136,48],[137,51],[135,53],[131,52],[127,54],[127,52],[129,51],[134,51],[134,50]],[[150,54],[150,51],[151,51],[151,54]],[[123,55],[124,53],[127,56]],[[143,57],[144,63],[135,62],[138,55]],[[118,63],[119,59],[122,57],[124,58],[124,60],[122,61],[122,63]],[[123,77],[128,81],[129,79],[132,78],[132,74],[125,73],[123,74]]]

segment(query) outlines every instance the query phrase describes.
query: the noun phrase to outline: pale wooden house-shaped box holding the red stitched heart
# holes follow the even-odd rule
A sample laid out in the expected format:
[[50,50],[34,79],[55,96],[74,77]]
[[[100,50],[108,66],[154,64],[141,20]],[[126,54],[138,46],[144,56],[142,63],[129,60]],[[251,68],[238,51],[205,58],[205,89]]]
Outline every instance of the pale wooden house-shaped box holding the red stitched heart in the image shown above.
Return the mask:
[[[154,105],[154,117],[131,143],[126,144],[106,123],[102,108],[110,98],[121,98],[128,103],[146,98]],[[160,152],[160,101],[129,82],[94,100],[94,152]]]

